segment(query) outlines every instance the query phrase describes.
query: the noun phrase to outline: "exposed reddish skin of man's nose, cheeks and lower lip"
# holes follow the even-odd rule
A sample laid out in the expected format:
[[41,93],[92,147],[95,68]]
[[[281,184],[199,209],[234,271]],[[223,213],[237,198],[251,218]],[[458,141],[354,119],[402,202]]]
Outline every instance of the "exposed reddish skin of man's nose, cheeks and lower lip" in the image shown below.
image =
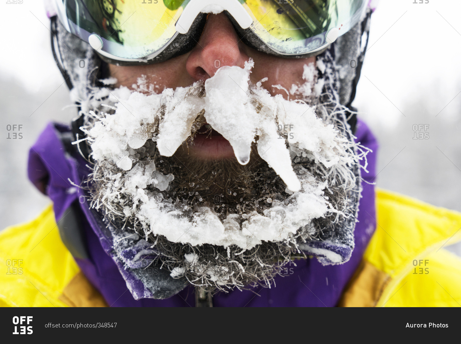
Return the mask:
[[[118,80],[118,86],[130,88],[139,77],[145,75],[147,82],[155,85],[155,91],[162,92],[165,88],[188,87],[198,80],[205,81],[214,76],[221,66],[243,68],[249,58],[254,60],[251,82],[256,83],[267,77],[262,86],[272,95],[281,94],[285,98],[286,92],[272,85],[290,90],[293,84],[303,84],[304,65],[315,63],[316,60],[315,57],[280,58],[254,50],[243,44],[228,17],[219,13],[208,16],[203,34],[191,52],[156,64],[130,67],[111,64],[109,67],[111,76]],[[295,99],[296,96],[290,98]],[[198,150],[194,150],[194,153],[206,159],[223,158],[225,155],[223,150],[216,155]]]

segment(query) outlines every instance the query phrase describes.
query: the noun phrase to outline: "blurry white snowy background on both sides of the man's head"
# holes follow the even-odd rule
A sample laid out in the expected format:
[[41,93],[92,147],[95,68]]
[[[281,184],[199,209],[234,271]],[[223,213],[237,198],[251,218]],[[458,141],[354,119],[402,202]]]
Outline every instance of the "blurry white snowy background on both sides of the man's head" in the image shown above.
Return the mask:
[[[354,105],[381,144],[379,187],[461,211],[461,2],[414,1],[379,3]],[[2,1],[0,228],[49,203],[27,179],[28,151],[48,121],[75,115],[48,27],[41,1]],[[9,124],[23,139],[6,139]],[[420,132],[429,138],[414,140]]]

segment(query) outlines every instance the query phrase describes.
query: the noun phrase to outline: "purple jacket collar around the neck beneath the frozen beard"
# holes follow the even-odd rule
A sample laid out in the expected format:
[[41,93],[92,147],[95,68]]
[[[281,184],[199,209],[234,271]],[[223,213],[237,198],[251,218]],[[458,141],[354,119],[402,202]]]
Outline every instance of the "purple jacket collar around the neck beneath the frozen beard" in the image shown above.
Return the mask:
[[[100,291],[111,306],[194,306],[194,290],[186,287],[166,299],[143,298],[149,292],[136,276],[130,272],[122,258],[111,253],[112,242],[101,226],[97,214],[89,210],[83,191],[73,184],[88,174],[86,162],[78,154],[66,152],[63,136],[69,136],[70,128],[50,123],[40,135],[29,154],[28,175],[30,181],[53,201],[56,221],[76,200],[84,216],[82,225],[85,234],[87,255],[76,258],[79,267],[89,281]],[[358,142],[372,149],[367,155],[368,173],[362,171],[366,182],[374,181],[376,151],[378,144],[370,129],[360,120],[355,135]],[[362,198],[355,227],[355,249],[349,262],[341,265],[321,265],[317,259],[298,260],[286,266],[284,276],[276,278],[272,288],[254,288],[253,291],[219,293],[213,297],[214,306],[335,306],[343,289],[355,272],[366,245],[375,229],[375,194],[373,185],[362,182]],[[130,255],[130,252],[126,252]],[[155,267],[153,267],[154,269]],[[129,287],[128,287],[129,286]],[[172,286],[182,289],[182,286]],[[256,294],[255,294],[256,292]],[[139,299],[135,299],[133,294]],[[141,297],[141,298],[140,298]]]

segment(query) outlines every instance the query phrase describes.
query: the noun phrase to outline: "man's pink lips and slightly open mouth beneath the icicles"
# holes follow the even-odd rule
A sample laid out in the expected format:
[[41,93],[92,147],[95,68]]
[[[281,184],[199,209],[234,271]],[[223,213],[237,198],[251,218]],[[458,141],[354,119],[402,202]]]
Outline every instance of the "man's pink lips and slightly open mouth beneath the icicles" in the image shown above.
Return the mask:
[[[189,139],[190,140],[190,139]],[[235,158],[234,150],[223,135],[202,123],[195,132],[194,140],[189,143],[189,153],[202,160],[220,160]]]

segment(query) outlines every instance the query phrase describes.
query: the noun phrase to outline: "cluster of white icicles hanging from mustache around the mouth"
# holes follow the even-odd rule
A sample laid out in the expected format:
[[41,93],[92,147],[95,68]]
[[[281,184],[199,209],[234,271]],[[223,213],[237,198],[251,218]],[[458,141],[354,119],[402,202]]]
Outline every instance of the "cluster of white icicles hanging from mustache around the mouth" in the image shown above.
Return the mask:
[[[249,162],[251,144],[257,135],[259,156],[272,166],[290,191],[299,191],[301,183],[291,166],[285,141],[279,140],[278,128],[295,122],[296,117],[306,112],[306,108],[296,102],[284,101],[282,96],[272,97],[262,87],[250,89],[249,73],[252,66],[246,63],[245,69],[236,66],[220,68],[213,78],[205,82],[205,98],[195,99],[187,109],[189,111],[183,111],[179,116],[173,111],[167,113],[160,123],[157,148],[161,155],[171,156],[188,138],[192,122],[197,113],[204,109],[207,122],[230,142],[240,164]],[[282,113],[285,116],[277,116]],[[305,131],[309,124],[303,123],[297,129]],[[178,128],[183,128],[183,131],[178,133]],[[334,133],[330,134],[333,139]],[[289,138],[289,142],[298,143],[301,149],[307,148],[305,145],[309,145],[309,142],[301,137],[304,135],[300,135],[300,142],[293,138]]]

